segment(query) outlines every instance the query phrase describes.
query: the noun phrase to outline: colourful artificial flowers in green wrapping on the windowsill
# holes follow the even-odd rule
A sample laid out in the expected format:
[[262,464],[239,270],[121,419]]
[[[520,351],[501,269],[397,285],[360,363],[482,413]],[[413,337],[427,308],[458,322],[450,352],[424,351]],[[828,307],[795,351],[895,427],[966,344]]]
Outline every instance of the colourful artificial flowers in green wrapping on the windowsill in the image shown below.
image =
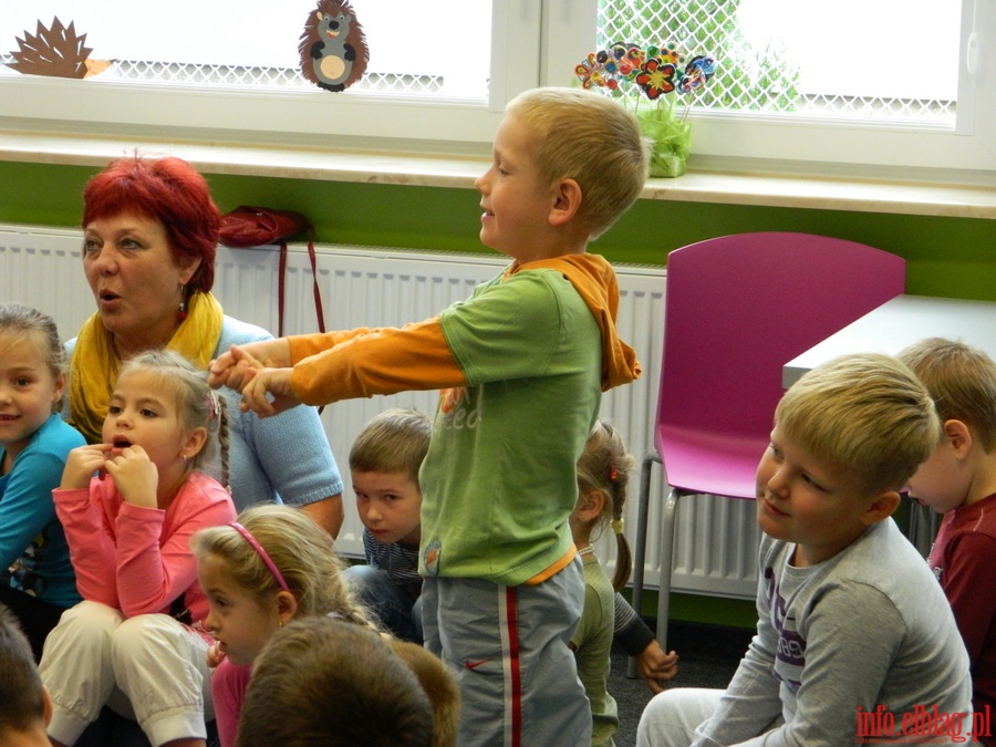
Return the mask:
[[[574,74],[585,89],[602,89],[616,96],[635,91],[654,102],[655,106],[641,111],[641,96],[635,97],[641,131],[653,143],[651,176],[685,173],[692,141],[692,125],[685,117],[692,97],[715,72],[716,61],[709,55],[696,54],[688,59],[673,44],[644,48],[625,42],[615,42],[593,52],[574,68]],[[688,98],[679,116],[674,111],[675,95]]]

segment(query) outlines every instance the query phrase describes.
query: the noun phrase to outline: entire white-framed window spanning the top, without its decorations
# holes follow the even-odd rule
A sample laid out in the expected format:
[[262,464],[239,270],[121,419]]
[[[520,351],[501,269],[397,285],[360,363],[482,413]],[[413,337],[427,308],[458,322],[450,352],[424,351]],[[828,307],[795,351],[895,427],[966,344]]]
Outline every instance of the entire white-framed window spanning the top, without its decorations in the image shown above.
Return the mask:
[[571,84],[610,40],[666,34],[717,59],[689,115],[699,166],[996,169],[994,0],[352,0],[371,63],[340,94],[298,70],[315,4],[177,0],[133,22],[124,0],[0,3],[0,62],[55,15],[117,61],[82,82],[0,66],[0,125],[481,154],[519,91]]

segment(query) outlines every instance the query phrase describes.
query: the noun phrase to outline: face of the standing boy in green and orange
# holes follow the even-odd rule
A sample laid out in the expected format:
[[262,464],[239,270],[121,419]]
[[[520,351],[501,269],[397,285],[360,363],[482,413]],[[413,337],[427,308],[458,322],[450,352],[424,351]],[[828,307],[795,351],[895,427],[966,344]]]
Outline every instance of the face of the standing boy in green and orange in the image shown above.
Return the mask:
[[543,185],[532,135],[515,116],[498,126],[491,166],[474,183],[481,195],[480,241],[520,262],[551,256],[548,218],[554,191]]

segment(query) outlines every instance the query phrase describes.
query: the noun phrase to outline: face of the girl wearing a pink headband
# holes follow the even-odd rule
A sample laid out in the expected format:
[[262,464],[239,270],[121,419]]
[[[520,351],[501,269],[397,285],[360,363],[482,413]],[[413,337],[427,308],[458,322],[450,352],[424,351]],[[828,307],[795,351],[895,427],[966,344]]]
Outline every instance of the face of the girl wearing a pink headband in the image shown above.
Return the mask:
[[251,664],[280,627],[276,594],[271,600],[259,600],[236,583],[228,564],[214,554],[197,561],[197,580],[209,605],[205,630],[232,664]]

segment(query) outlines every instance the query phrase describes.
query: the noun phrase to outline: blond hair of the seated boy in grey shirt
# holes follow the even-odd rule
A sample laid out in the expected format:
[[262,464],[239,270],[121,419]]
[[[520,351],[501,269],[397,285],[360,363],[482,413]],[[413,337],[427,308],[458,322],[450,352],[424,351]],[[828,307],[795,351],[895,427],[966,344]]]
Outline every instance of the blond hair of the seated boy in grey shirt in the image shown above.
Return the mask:
[[926,388],[904,363],[878,353],[818,365],[785,393],[775,422],[815,457],[850,469],[869,492],[901,490],[940,436]]

